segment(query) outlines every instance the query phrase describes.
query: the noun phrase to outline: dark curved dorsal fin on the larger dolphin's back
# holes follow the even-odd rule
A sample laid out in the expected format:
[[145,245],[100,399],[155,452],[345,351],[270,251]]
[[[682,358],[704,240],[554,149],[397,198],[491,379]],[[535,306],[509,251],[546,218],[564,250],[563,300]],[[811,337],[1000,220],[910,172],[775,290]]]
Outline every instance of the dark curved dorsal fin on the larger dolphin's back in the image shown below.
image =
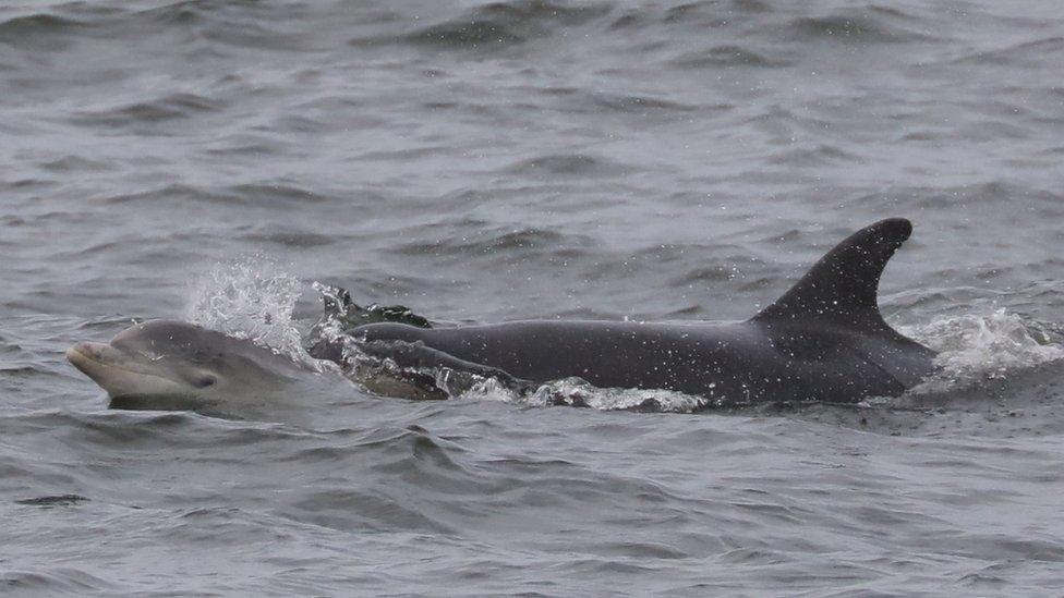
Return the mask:
[[820,258],[755,321],[822,320],[860,330],[890,330],[876,303],[880,274],[912,233],[912,223],[888,218],[846,237]]

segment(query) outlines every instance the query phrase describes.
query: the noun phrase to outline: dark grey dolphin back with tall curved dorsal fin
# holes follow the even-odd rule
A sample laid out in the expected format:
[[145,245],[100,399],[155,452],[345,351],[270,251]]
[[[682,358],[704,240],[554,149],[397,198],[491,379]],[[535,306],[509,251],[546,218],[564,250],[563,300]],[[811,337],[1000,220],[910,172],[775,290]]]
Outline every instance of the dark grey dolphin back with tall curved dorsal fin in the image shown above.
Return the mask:
[[[579,377],[601,388],[679,391],[720,405],[896,396],[934,369],[934,353],[887,326],[876,305],[880,274],[911,231],[908,220],[888,219],[854,233],[741,322],[371,324],[346,334],[400,367],[449,367],[520,388]],[[315,352],[338,358],[327,344]]]

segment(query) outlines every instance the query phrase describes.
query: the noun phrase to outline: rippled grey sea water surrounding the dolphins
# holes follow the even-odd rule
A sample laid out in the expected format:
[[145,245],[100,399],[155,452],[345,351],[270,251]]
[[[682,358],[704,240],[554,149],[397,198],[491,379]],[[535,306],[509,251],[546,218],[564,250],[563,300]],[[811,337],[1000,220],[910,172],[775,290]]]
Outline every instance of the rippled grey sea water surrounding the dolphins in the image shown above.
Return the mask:
[[[1062,161],[1055,2],[4,2],[0,591],[1064,593]],[[943,374],[857,406],[323,376],[221,419],[62,357],[159,317],[285,349],[314,282],[741,319],[895,216],[881,307]]]

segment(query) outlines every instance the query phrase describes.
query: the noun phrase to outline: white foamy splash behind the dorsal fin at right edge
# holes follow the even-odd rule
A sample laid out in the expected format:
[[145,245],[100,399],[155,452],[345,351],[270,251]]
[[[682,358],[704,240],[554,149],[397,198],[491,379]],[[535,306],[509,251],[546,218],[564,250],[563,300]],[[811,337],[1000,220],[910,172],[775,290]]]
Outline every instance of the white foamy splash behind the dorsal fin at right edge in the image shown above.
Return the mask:
[[1047,325],[1004,308],[903,327],[902,331],[939,353],[935,364],[941,370],[914,388],[915,393],[964,388],[1004,378],[1013,370],[1064,359],[1064,346]]

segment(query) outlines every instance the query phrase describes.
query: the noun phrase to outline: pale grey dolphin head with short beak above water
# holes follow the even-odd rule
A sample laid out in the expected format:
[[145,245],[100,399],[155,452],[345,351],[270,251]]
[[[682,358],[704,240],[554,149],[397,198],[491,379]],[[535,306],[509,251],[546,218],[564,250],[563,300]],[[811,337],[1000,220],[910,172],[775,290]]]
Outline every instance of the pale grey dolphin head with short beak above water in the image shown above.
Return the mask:
[[111,398],[111,407],[209,411],[283,386],[295,362],[195,325],[137,324],[110,343],[76,343],[66,359]]

